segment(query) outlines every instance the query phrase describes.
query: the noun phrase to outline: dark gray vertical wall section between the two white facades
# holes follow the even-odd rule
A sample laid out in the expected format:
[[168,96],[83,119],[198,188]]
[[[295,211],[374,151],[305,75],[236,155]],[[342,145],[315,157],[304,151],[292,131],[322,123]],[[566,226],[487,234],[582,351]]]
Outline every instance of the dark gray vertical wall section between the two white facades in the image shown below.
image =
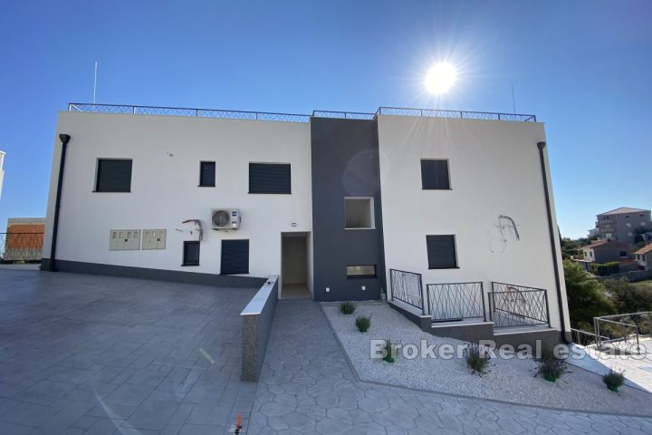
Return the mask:
[[[318,301],[379,299],[385,285],[378,123],[311,119],[312,250]],[[344,197],[373,197],[376,229],[344,229]],[[347,278],[346,266],[376,265],[378,277]],[[366,290],[361,290],[365,285]],[[331,288],[326,293],[326,287]]]

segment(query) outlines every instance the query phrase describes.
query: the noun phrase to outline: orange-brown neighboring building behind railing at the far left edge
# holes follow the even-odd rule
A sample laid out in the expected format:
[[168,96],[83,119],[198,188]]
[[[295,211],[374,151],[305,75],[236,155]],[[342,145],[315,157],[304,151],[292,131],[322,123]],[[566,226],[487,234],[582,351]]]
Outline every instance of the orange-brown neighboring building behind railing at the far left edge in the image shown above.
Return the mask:
[[0,234],[4,262],[41,261],[45,218],[8,218],[5,234]]

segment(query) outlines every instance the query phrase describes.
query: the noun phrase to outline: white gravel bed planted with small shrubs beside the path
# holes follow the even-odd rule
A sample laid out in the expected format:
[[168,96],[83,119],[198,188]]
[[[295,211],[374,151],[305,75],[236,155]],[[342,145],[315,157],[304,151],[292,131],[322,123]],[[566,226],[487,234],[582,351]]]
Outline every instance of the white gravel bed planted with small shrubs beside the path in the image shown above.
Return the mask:
[[[362,381],[381,382],[420,390],[447,392],[464,396],[509,401],[564,410],[600,411],[618,414],[652,415],[649,402],[652,395],[623,386],[611,392],[600,377],[578,367],[569,366],[557,382],[535,376],[537,363],[532,359],[493,359],[490,372],[482,377],[466,368],[464,359],[407,359],[398,355],[396,362],[369,358],[369,340],[387,339],[392,343],[428,344],[465,343],[453,338],[424,333],[388,304],[356,304],[354,314],[341,314],[338,305],[323,304],[334,332],[340,339]],[[368,333],[355,327],[358,314],[371,315]]]

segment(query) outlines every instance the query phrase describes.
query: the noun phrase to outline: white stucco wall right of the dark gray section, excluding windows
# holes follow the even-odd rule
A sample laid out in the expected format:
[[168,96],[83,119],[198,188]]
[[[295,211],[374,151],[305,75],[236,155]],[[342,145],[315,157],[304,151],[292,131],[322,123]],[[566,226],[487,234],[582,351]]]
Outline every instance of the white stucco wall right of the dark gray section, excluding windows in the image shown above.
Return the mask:
[[[423,274],[424,285],[483,281],[487,292],[494,281],[544,288],[551,324],[559,328],[539,141],[545,141],[541,123],[380,115],[387,269]],[[421,189],[420,160],[428,158],[449,160],[450,190]],[[551,189],[549,170],[548,180]],[[507,231],[507,243],[501,242],[500,215],[514,219],[520,241]],[[553,226],[567,313],[556,221]],[[459,268],[428,269],[427,235],[455,235]]]

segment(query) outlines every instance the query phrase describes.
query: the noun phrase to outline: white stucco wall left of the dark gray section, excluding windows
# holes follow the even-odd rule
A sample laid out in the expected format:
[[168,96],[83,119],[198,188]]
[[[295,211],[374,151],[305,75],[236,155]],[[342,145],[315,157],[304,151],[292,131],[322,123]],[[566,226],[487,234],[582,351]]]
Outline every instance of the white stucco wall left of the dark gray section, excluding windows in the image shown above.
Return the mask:
[[[57,259],[220,273],[221,240],[249,239],[249,274],[280,275],[281,233],[312,230],[310,124],[61,112],[70,134]],[[43,252],[49,257],[61,142],[55,140]],[[94,193],[98,158],[133,160],[130,193]],[[199,188],[199,162],[216,161],[216,187]],[[249,194],[249,162],[290,163],[291,195]],[[239,208],[242,225],[210,227],[211,208]],[[181,266],[182,224],[204,224],[200,266]],[[296,224],[292,227],[292,224]],[[110,229],[168,230],[165,250],[110,251]]]

